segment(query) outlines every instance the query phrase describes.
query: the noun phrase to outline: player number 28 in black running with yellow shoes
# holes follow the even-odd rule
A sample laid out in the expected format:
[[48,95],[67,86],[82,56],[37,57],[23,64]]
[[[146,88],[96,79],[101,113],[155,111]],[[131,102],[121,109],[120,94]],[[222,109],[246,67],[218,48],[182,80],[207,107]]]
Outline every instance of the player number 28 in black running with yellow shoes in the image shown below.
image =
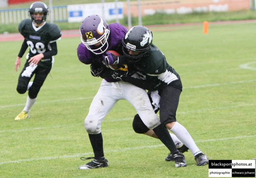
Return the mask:
[[[45,22],[48,7],[43,2],[34,2],[28,10],[31,19],[22,20],[18,29],[25,38],[15,62],[15,70],[20,68],[20,58],[29,46],[26,63],[19,75],[17,91],[20,94],[28,90],[27,102],[22,112],[14,119],[29,117],[29,111],[36,101],[37,94],[49,74],[57,54],[56,41],[61,32],[57,25]],[[35,74],[33,82],[29,82]]]

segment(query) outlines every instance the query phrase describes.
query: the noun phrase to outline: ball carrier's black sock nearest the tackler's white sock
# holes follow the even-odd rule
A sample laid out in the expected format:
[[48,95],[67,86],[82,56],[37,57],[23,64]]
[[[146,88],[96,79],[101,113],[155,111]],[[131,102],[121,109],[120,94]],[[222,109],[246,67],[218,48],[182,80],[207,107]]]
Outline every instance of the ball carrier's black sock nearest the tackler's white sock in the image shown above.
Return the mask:
[[153,131],[172,154],[178,152],[178,149],[176,148],[169,131],[162,124],[154,128]]

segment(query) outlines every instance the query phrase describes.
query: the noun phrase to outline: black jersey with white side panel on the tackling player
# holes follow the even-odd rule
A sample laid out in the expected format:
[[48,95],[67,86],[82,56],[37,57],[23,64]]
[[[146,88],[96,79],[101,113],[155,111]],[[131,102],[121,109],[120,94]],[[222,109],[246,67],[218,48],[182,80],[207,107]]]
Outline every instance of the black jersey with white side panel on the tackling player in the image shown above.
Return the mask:
[[151,45],[150,51],[131,67],[142,79],[154,86],[154,90],[160,90],[180,79],[179,74],[167,63],[164,54],[154,44]]

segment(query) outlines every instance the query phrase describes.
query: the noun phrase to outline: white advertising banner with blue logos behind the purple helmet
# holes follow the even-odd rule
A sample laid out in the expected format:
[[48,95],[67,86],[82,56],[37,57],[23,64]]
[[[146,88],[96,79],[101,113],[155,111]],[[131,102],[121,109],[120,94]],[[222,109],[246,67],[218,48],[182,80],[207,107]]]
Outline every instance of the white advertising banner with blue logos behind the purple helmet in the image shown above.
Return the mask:
[[116,19],[116,5],[118,19],[122,19],[124,17],[123,2],[68,5],[68,22],[82,22],[84,18],[92,14],[100,15],[106,20],[114,20]]

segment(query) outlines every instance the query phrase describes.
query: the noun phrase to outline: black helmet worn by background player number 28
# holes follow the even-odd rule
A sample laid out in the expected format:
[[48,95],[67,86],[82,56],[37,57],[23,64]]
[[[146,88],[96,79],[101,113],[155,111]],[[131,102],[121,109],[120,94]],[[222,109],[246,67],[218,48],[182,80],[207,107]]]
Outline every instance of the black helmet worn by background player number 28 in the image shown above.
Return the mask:
[[[35,21],[35,19],[33,17],[33,13],[36,13],[36,12],[43,13],[42,20]],[[34,2],[33,4],[31,4],[31,6],[29,7],[28,15],[31,17],[31,19],[35,23],[40,24],[46,20],[46,16],[48,15],[48,12],[49,12],[49,10],[48,10],[48,7],[46,6],[46,4],[44,4],[43,2],[37,1],[37,2]]]

